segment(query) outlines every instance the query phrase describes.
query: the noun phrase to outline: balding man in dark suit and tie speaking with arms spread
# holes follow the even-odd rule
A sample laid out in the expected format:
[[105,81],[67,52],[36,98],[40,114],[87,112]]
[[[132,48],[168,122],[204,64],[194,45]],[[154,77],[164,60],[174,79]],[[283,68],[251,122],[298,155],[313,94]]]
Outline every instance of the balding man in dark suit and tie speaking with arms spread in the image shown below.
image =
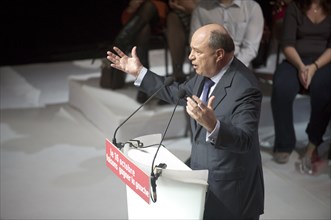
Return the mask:
[[[262,93],[252,72],[234,57],[233,40],[218,24],[199,28],[192,36],[189,59],[196,75],[174,83],[158,97],[179,100],[191,117],[192,169],[208,169],[204,219],[259,219],[264,212],[264,183],[259,150],[258,124]],[[135,85],[152,94],[164,77],[144,68],[132,49],[132,57],[114,48],[108,51],[111,66],[136,77]],[[212,80],[205,103],[204,82]]]

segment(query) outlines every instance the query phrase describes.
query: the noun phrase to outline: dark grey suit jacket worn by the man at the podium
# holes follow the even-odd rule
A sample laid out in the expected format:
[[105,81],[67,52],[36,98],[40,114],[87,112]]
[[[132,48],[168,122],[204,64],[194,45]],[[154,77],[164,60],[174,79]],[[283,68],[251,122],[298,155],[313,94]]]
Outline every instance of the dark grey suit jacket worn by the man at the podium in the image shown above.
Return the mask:
[[[164,78],[150,71],[140,88],[155,92]],[[201,94],[203,77],[166,87],[158,97],[170,103],[178,100],[179,88],[188,95]],[[212,95],[214,111],[220,121],[214,144],[206,142],[206,130],[190,120],[192,128],[192,169],[208,169],[205,219],[258,217],[264,210],[264,183],[259,149],[258,124],[262,93],[253,73],[234,58]],[[186,105],[186,100],[180,100]]]

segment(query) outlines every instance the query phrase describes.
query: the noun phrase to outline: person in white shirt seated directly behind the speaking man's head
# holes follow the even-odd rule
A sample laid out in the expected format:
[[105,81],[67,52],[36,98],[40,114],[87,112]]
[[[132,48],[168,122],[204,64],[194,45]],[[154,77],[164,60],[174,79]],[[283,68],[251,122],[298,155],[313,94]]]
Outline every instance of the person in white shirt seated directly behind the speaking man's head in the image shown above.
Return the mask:
[[235,56],[250,66],[263,33],[264,18],[260,5],[253,0],[202,0],[192,12],[191,35],[209,23],[225,26],[234,40]]

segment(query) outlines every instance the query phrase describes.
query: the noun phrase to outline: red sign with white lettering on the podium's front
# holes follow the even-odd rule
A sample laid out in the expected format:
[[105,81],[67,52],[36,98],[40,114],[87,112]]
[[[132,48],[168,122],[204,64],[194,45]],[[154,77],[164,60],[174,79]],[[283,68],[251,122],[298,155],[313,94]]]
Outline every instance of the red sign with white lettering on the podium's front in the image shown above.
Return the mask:
[[106,139],[106,165],[143,200],[150,203],[149,175],[132,163],[108,139]]

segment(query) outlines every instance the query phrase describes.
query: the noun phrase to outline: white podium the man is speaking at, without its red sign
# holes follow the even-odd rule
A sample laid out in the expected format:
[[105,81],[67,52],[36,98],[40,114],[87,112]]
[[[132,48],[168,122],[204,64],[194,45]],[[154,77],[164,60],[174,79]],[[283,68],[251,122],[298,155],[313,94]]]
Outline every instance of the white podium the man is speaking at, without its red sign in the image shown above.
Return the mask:
[[[136,149],[125,145],[124,155],[150,176],[161,135],[153,134],[135,139],[140,140],[144,146],[155,147]],[[126,186],[129,219],[202,219],[208,170],[191,170],[163,146],[158,151],[154,166],[159,163],[165,163],[167,168],[162,170],[156,181],[155,203],[150,201],[148,204]]]

